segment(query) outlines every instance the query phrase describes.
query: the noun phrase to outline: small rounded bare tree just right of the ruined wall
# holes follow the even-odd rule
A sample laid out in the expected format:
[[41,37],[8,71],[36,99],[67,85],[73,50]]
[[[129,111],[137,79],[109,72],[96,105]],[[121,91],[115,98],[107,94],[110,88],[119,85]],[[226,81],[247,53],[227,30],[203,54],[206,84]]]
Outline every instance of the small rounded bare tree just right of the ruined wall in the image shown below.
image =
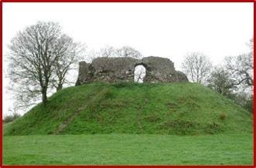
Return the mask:
[[190,81],[203,83],[210,74],[212,63],[206,55],[193,52],[186,56],[182,68]]

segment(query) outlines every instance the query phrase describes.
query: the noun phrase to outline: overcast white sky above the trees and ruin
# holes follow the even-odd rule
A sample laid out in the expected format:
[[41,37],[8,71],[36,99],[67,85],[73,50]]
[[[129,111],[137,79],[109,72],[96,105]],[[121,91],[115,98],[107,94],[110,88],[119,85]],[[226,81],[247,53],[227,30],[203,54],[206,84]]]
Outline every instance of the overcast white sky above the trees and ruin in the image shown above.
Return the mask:
[[[217,65],[248,52],[253,10],[253,3],[3,3],[3,54],[19,30],[54,21],[89,50],[130,45],[144,56],[171,59],[176,69],[186,53],[203,52]],[[12,100],[3,92],[5,116]]]

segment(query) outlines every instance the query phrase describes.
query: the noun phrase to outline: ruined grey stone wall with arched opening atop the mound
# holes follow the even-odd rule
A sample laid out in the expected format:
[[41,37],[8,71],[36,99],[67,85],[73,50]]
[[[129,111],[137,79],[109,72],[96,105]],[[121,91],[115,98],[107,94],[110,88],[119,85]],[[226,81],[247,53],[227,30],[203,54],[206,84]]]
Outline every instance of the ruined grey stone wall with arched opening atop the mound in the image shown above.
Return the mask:
[[79,62],[76,86],[90,82],[134,82],[135,66],[139,65],[146,69],[143,82],[188,82],[186,75],[176,71],[173,62],[166,58],[100,57],[91,63]]

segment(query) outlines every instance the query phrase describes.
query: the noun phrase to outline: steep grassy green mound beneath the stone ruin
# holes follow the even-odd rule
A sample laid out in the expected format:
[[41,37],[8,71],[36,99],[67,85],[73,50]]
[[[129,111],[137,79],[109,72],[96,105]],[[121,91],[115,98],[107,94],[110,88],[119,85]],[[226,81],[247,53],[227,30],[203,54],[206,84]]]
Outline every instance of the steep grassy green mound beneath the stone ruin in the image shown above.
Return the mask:
[[251,132],[251,113],[199,84],[92,83],[56,92],[4,134]]

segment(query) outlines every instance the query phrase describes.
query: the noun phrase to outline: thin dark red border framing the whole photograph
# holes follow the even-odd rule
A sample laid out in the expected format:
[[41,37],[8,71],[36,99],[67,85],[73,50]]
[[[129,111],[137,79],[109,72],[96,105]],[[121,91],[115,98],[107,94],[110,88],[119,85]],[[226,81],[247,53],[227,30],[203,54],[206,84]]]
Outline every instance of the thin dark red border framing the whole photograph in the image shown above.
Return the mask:
[[[254,2],[254,9],[256,7],[256,0],[0,0],[0,12],[1,14],[3,15],[2,13],[2,3],[3,2]],[[1,15],[1,37],[2,37],[2,15]],[[254,21],[255,21],[255,15],[256,15],[256,12],[254,11]],[[255,22],[254,22],[255,24]],[[254,29],[255,29],[255,26],[254,26]],[[1,38],[1,46],[0,46],[0,51],[1,51],[1,55],[3,54],[2,53],[2,38]],[[0,76],[2,76],[2,57],[0,59],[0,62],[1,62],[1,65],[0,65]],[[256,70],[254,69],[254,74],[255,74]],[[0,96],[0,99],[2,99],[2,80],[0,82],[0,87],[1,87],[1,96]],[[255,92],[254,92],[255,93]],[[0,107],[2,109],[2,102],[0,103]],[[255,107],[255,103],[254,103],[254,107]],[[254,115],[253,115],[254,116]],[[1,117],[1,122],[0,122],[0,157],[1,157],[1,160],[0,160],[0,168],[2,167],[12,167],[12,168],[19,168],[19,167],[23,167],[23,168],[29,168],[31,166],[2,166],[2,113],[0,114],[0,117]],[[255,119],[254,119],[254,122],[255,122]],[[256,132],[256,127],[254,126],[254,133]],[[254,139],[256,138],[255,134],[254,134]],[[256,142],[254,141],[254,146],[256,145]],[[254,148],[254,153],[255,153],[255,148]],[[254,154],[253,153],[253,154]],[[44,167],[44,166],[36,166],[36,167]],[[54,168],[61,168],[61,167],[67,167],[67,166],[46,166],[46,167],[54,167]],[[77,168],[81,168],[81,167],[84,167],[84,166],[75,166]],[[131,167],[179,167],[179,168],[183,168],[183,167],[205,167],[205,166],[86,166],[86,167],[105,167],[105,168],[108,168],[108,167],[123,167],[123,168],[131,168]],[[235,167],[235,168],[240,168],[240,167],[254,167],[256,168],[256,157],[254,156],[254,163],[253,165],[251,166],[207,166],[207,167],[227,167],[227,168],[231,168],[231,167]]]

